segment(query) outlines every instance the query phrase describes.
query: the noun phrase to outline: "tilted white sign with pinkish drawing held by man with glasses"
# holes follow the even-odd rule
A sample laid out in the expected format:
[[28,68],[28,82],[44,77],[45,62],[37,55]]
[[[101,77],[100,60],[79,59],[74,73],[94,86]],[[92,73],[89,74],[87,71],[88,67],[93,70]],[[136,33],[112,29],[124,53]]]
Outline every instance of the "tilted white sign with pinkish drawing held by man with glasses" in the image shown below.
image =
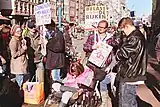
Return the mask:
[[99,48],[92,51],[88,60],[96,66],[102,67],[109,54],[111,53],[113,47],[101,41],[98,42],[97,45]]

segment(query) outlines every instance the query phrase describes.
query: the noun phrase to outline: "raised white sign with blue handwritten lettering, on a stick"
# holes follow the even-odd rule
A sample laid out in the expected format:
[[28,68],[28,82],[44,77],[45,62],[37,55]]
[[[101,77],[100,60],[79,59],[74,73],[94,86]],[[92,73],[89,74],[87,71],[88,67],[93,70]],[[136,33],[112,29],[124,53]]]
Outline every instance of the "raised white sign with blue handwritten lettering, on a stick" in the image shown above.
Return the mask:
[[51,9],[49,2],[35,6],[34,11],[37,25],[51,23]]

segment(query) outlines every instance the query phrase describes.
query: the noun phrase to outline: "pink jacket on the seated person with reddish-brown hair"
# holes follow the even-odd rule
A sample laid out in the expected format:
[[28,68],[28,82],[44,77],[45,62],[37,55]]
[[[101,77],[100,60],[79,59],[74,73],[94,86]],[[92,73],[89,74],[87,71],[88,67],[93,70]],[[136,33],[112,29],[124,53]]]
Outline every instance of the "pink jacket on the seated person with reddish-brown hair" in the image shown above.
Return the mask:
[[85,66],[84,69],[84,72],[78,77],[74,77],[68,73],[67,77],[63,80],[64,85],[79,88],[77,83],[82,83],[86,86],[89,86],[92,82],[94,72],[87,66]]

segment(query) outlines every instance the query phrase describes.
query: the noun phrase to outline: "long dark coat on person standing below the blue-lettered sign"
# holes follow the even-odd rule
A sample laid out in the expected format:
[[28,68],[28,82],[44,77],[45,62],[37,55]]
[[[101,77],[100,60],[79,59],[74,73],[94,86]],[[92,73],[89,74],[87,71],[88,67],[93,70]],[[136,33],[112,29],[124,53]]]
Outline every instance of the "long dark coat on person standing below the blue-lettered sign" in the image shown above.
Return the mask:
[[61,31],[55,31],[53,37],[48,40],[46,50],[46,69],[52,70],[64,67],[65,41]]

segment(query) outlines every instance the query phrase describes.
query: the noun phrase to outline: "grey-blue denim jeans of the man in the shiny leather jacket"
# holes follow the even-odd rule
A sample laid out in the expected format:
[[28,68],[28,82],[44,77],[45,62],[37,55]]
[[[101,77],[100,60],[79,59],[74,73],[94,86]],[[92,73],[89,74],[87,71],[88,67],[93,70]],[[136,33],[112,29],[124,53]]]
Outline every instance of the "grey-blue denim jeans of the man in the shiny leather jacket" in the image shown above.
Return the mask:
[[119,84],[119,106],[118,107],[137,107],[136,85],[126,83]]

